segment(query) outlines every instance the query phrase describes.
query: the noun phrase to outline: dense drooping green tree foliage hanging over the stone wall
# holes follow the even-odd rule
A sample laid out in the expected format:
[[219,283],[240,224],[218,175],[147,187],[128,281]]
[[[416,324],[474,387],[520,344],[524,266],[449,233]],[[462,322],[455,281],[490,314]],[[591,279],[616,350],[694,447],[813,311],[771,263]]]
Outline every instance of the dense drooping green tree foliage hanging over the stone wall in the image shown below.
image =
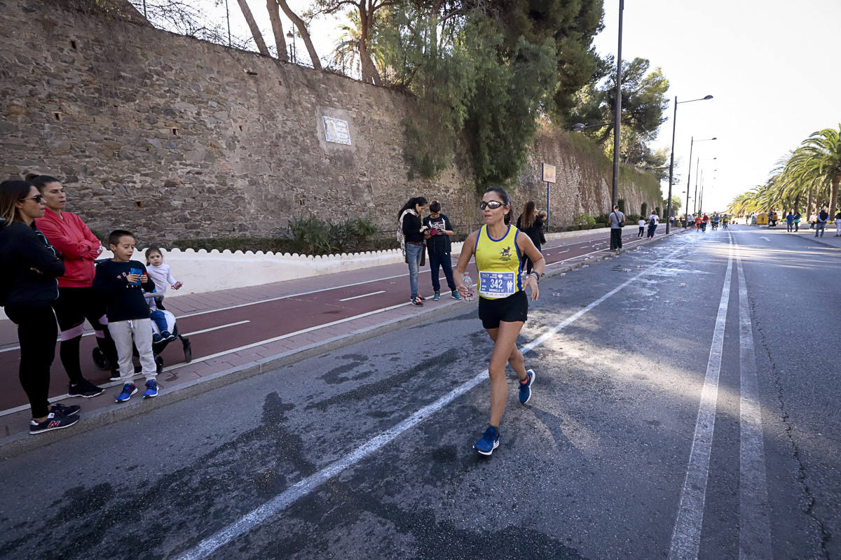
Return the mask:
[[[574,14],[587,15],[589,27]],[[480,186],[515,177],[538,118],[555,107],[558,69],[569,65],[559,44],[575,39],[589,49],[600,18],[601,3],[593,0],[391,6],[380,30],[383,54],[394,81],[420,106],[406,123],[410,173],[436,175],[463,135]],[[573,37],[570,29],[579,31]]]

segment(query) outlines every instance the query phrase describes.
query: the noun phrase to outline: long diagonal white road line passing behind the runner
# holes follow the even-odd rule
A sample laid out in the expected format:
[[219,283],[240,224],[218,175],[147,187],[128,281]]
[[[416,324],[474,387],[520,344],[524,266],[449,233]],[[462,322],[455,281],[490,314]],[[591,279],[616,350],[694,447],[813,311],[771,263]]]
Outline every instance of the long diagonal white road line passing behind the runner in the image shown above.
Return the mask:
[[[667,255],[665,259],[671,258],[678,249],[672,251],[669,255]],[[613,296],[619,290],[623,289],[625,286],[632,284],[636,280],[639,280],[640,277],[643,275],[650,274],[655,267],[652,267],[652,270],[644,270],[637,275],[632,276],[621,285],[618,285],[613,290],[607,292],[604,296],[601,296],[599,299],[590,303],[590,305],[584,307],[583,309],[575,312],[571,317],[565,319],[563,322],[558,323],[555,327],[550,328],[547,332],[544,332],[539,337],[532,340],[531,343],[527,343],[521,348],[521,352],[525,353],[532,348],[539,346],[540,344],[546,342],[548,339],[552,338],[556,335],[559,331],[561,331],[564,327],[567,327],[570,323],[576,321],[580,317],[582,317],[585,313],[592,310],[595,306],[598,306],[601,302],[605,301],[609,297]],[[324,484],[328,479],[336,476],[336,474],[341,474],[346,468],[352,467],[354,464],[361,461],[363,458],[368,457],[371,453],[374,453],[381,447],[385,446],[395,437],[398,437],[400,434],[409,430],[412,427],[417,426],[421,423],[421,421],[426,420],[427,417],[431,416],[436,411],[440,411],[444,406],[451,403],[453,400],[457,399],[459,396],[468,392],[468,390],[472,390],[474,387],[482,383],[483,381],[488,379],[488,370],[484,369],[479,374],[476,374],[473,379],[469,379],[467,382],[459,385],[456,389],[447,393],[447,395],[443,395],[440,399],[436,400],[435,402],[431,403],[430,405],[424,406],[419,411],[416,411],[414,414],[406,418],[404,421],[399,422],[398,424],[394,425],[394,427],[389,428],[385,432],[378,434],[377,436],[369,439],[368,442],[362,444],[361,447],[357,447],[355,451],[352,453],[348,453],[341,459],[337,460],[336,463],[331,463],[325,468],[322,468],[320,471],[317,471],[315,474],[311,474],[305,479],[300,480],[297,484],[289,487],[288,489],[284,490],[282,493],[275,496],[272,500],[267,501],[265,504],[261,505],[255,510],[251,510],[245,516],[242,516],[238,521],[231,523],[229,526],[225,526],[220,531],[215,532],[213,535],[205,538],[203,541],[199,542],[193,548],[190,548],[188,551],[184,552],[181,556],[178,557],[179,560],[193,560],[196,558],[204,558],[208,557],[210,554],[218,550],[220,547],[225,546],[228,542],[234,540],[236,537],[246,534],[248,531],[251,531],[254,527],[261,525],[263,522],[267,521],[272,516],[275,516],[280,511],[285,510],[289,505],[294,504],[296,500],[299,500],[304,495],[309,494],[312,490],[318,488],[320,484]]]

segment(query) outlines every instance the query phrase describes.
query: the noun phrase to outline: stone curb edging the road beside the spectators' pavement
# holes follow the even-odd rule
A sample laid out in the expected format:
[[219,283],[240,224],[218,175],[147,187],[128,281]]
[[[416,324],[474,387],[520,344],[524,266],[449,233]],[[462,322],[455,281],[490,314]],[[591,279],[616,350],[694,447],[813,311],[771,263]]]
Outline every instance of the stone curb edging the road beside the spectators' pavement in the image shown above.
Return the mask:
[[[684,233],[684,230],[681,229],[680,231],[674,231],[673,229],[670,233],[661,238],[646,239],[645,241],[635,245],[634,249],[637,249],[637,247],[640,247],[641,245],[648,245],[649,243],[660,241],[661,239],[677,233]],[[625,253],[628,250],[632,249],[619,249],[618,252],[606,250],[604,254],[593,255],[579,262],[563,265],[557,269],[547,272],[545,275],[547,277],[551,277],[561,273],[566,273],[579,268],[582,264],[590,264],[591,262],[611,258],[616,256],[616,254]],[[408,306],[409,304],[406,305]],[[426,315],[431,312],[440,313],[443,311],[447,313],[447,317],[450,317],[450,315],[458,316],[463,314],[465,311],[470,311],[473,305],[478,305],[478,300],[476,302],[467,303],[467,306],[465,306],[465,303],[462,301],[447,301],[443,306],[436,306],[435,308],[430,307],[429,310],[415,312],[406,317],[397,317],[390,319],[389,321],[379,323],[378,325],[363,327],[339,337],[329,338],[320,343],[312,343],[304,346],[303,348],[288,350],[287,352],[255,360],[253,362],[249,362],[248,364],[236,366],[235,368],[225,369],[203,379],[193,379],[183,385],[177,385],[177,389],[172,390],[171,392],[163,392],[161,395],[158,395],[156,398],[151,400],[135,399],[119,406],[115,405],[113,407],[103,408],[98,411],[88,413],[82,412],[82,421],[78,422],[71,430],[56,430],[36,436],[30,435],[29,432],[20,432],[12,436],[3,437],[0,438],[0,461],[12,458],[20,453],[32,451],[33,449],[37,449],[39,447],[45,447],[51,443],[75,437],[85,432],[90,432],[99,427],[108,426],[108,424],[113,424],[117,421],[126,420],[128,418],[140,416],[141,414],[145,414],[147,412],[156,411],[163,406],[172,405],[181,400],[187,400],[193,396],[201,395],[210,390],[219,389],[225,385],[231,385],[237,381],[241,381],[242,379],[248,379],[256,375],[265,374],[274,369],[283,368],[287,365],[295,364],[303,361],[304,359],[313,358],[325,352],[331,352],[337,348],[344,348],[346,346],[350,346],[351,344],[377,337],[383,332],[382,329],[387,327],[410,327],[424,322],[426,320]],[[455,307],[455,309],[451,309],[452,307]]]

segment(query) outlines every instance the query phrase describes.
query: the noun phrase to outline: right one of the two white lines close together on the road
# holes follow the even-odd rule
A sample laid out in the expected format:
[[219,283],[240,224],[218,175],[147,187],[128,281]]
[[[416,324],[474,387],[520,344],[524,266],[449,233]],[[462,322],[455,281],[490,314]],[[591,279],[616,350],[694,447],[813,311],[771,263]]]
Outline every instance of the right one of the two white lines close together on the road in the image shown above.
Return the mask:
[[739,399],[739,560],[764,560],[771,551],[768,483],[765,478],[765,447],[762,437],[762,410],[759,405],[759,383],[756,374],[754,330],[748,308],[748,285],[742,268],[742,249],[738,249],[738,326],[739,371],[742,395]]

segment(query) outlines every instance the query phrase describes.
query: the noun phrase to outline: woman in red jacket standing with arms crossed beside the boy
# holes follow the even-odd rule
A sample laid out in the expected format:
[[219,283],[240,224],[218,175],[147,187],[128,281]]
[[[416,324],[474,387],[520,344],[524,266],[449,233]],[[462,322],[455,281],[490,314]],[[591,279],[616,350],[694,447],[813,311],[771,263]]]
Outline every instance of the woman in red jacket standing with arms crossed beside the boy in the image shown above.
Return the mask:
[[50,175],[28,175],[27,179],[38,188],[46,204],[44,217],[36,219],[35,225],[61,254],[66,269],[58,279],[58,299],[53,302],[53,309],[61,329],[59,357],[70,378],[67,394],[85,398],[102,395],[102,387],[82,377],[79,360],[79,345],[87,318],[99,349],[114,368],[117,364],[117,348],[106,327],[105,307],[92,287],[96,272],[93,259],[102,253],[102,243],[81,217],[65,212],[67,199],[61,181]]

